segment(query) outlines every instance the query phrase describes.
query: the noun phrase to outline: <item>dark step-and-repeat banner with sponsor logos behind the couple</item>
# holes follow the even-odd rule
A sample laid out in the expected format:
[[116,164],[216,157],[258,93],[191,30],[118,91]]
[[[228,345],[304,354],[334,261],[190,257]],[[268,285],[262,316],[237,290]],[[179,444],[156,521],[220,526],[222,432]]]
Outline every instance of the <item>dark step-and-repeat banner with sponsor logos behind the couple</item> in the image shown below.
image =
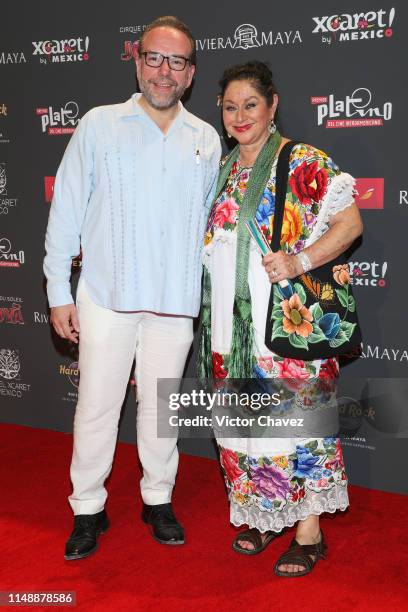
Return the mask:
[[[6,2],[0,20],[0,420],[72,430],[78,355],[50,328],[42,272],[54,177],[81,116],[136,91],[135,42],[146,24],[168,13],[196,37],[189,110],[223,137],[217,107],[223,70],[251,59],[269,62],[280,92],[281,132],[323,149],[356,177],[364,236],[350,267],[364,337],[361,354],[342,369],[350,383],[340,398],[344,450],[352,483],[407,492],[403,0],[184,0],[170,7],[159,0],[152,8],[130,0]],[[80,270],[78,254],[74,287]],[[187,375],[194,359],[193,350]],[[134,395],[130,382],[120,429],[126,441],[135,439]],[[215,456],[209,440],[181,446]]]

